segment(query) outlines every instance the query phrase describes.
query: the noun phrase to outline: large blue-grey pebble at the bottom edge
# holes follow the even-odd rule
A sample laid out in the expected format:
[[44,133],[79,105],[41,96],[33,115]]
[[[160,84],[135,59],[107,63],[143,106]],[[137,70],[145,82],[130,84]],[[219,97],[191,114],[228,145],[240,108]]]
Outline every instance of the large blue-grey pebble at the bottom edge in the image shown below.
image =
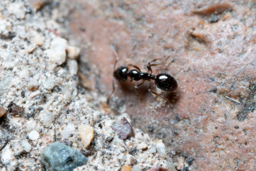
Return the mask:
[[47,171],[73,171],[87,161],[78,150],[59,142],[50,144],[41,154],[41,162]]

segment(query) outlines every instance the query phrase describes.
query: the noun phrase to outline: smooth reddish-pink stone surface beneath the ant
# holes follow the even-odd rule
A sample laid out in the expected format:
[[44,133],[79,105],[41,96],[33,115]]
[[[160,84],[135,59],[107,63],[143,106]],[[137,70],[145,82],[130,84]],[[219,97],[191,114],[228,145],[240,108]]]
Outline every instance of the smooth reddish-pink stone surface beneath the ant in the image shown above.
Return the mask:
[[146,71],[150,60],[170,56],[152,69],[178,80],[176,92],[157,90],[171,103],[152,96],[148,82],[140,95],[139,82],[115,82],[110,104],[116,115],[126,111],[134,125],[162,141],[177,170],[256,169],[253,1],[76,2],[70,28],[84,44],[79,69],[90,82],[85,87],[105,101],[111,93],[112,43],[117,67],[131,63]]

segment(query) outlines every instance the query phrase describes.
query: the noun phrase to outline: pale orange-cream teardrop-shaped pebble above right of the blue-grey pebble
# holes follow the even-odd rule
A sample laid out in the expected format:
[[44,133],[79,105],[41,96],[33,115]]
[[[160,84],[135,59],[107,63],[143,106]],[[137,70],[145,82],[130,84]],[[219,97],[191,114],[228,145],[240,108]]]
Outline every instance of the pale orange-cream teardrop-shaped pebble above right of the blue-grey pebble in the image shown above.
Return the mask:
[[79,136],[83,142],[84,147],[88,147],[93,139],[93,127],[90,125],[80,125],[78,127]]

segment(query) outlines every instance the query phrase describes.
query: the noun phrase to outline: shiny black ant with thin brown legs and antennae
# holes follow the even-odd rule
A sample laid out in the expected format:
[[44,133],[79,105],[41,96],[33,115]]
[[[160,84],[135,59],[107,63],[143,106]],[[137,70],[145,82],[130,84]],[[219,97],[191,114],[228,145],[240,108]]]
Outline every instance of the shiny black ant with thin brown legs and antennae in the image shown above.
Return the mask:
[[[126,81],[128,79],[128,77],[131,78],[130,82],[132,82],[133,80],[135,80],[135,81],[143,80],[142,83],[140,83],[137,86],[135,86],[135,90],[137,91],[137,93],[138,93],[138,88],[140,86],[142,86],[142,84],[145,82],[145,80],[148,80],[149,82],[150,82],[150,80],[155,80],[155,84],[156,84],[157,88],[159,88],[159,89],[161,89],[163,91],[174,91],[175,89],[178,88],[177,81],[170,74],[160,73],[160,74],[157,74],[157,75],[152,75],[151,67],[152,66],[157,66],[157,65],[163,65],[164,63],[158,63],[158,64],[150,64],[150,63],[151,62],[155,62],[157,60],[164,60],[164,58],[157,58],[157,59],[151,60],[148,63],[148,65],[147,65],[148,72],[141,72],[140,68],[135,66],[135,65],[133,65],[133,64],[128,64],[127,67],[123,67],[122,66],[122,67],[119,67],[119,68],[116,69],[116,63],[119,60],[119,56],[116,53],[116,50],[114,49],[114,45],[112,46],[112,51],[114,52],[114,54],[116,56],[116,62],[114,64],[114,73],[113,73],[114,78],[116,80],[118,80],[119,82]],[[166,60],[168,58],[166,58]],[[128,68],[129,66],[134,67],[137,70],[133,69],[133,70],[129,71],[129,68]],[[115,91],[114,79],[112,80],[112,85],[113,85],[113,91],[111,92],[111,94],[107,98],[107,104],[109,104],[109,99],[110,99],[110,97],[112,96],[112,94]],[[152,91],[151,88],[152,88],[152,84],[150,82],[150,84],[149,84],[149,92],[151,92],[153,94],[156,94],[157,96],[163,98],[165,101],[168,101],[164,97],[162,97],[159,94],[157,94],[156,92]]]

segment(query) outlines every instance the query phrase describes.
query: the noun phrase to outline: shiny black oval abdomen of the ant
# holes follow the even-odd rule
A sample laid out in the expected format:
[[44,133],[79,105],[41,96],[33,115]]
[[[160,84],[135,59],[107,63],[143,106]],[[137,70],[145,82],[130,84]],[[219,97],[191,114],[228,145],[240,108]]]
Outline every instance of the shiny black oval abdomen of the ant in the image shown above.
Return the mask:
[[163,91],[174,91],[178,88],[177,81],[166,73],[156,75],[155,84]]

